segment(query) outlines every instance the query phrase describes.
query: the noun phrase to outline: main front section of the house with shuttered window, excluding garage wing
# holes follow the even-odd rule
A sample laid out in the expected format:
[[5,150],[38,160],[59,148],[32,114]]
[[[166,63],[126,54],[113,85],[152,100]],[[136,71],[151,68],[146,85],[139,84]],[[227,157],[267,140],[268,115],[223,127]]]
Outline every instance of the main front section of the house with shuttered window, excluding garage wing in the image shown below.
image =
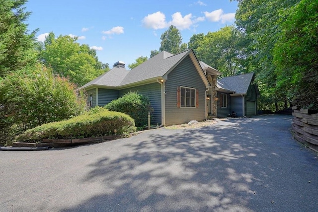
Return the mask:
[[182,124],[207,119],[206,96],[211,85],[206,73],[220,72],[202,68],[191,49],[176,55],[162,51],[132,70],[119,61],[80,89],[86,91],[91,107],[138,91],[149,97],[154,108],[153,125]]

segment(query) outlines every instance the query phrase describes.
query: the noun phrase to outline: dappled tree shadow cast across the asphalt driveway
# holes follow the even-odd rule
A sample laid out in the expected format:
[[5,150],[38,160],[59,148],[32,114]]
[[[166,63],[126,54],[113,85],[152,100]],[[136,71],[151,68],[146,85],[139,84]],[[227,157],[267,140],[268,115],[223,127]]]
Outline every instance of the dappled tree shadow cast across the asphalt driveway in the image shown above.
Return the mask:
[[318,161],[292,139],[291,123],[277,115],[219,120],[148,131],[112,149],[103,143],[79,182],[103,192],[61,211],[315,211]]

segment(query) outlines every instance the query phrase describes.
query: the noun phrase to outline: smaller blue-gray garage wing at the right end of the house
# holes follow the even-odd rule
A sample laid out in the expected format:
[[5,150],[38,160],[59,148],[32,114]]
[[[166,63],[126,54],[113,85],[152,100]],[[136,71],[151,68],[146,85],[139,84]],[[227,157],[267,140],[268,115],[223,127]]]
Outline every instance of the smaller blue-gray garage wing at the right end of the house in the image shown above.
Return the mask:
[[217,80],[217,117],[227,117],[232,111],[239,117],[257,113],[258,86],[253,72]]

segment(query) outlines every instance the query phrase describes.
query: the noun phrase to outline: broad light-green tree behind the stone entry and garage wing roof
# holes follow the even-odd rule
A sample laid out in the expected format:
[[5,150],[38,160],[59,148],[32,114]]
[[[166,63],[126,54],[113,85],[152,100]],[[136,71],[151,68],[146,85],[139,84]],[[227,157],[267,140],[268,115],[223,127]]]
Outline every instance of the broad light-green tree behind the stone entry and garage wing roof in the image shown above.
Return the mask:
[[234,26],[226,26],[217,32],[192,36],[198,59],[221,71],[223,76],[233,76],[243,71],[241,33]]

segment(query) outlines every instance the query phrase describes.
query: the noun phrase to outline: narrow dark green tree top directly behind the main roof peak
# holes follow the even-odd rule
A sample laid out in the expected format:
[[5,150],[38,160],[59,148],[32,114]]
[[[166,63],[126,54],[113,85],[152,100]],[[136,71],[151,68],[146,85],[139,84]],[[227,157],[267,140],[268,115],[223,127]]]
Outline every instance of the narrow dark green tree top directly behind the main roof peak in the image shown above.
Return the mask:
[[171,25],[168,30],[161,34],[160,39],[160,52],[166,51],[171,54],[177,54],[185,51],[188,48],[186,43],[182,43],[180,31],[173,25]]

